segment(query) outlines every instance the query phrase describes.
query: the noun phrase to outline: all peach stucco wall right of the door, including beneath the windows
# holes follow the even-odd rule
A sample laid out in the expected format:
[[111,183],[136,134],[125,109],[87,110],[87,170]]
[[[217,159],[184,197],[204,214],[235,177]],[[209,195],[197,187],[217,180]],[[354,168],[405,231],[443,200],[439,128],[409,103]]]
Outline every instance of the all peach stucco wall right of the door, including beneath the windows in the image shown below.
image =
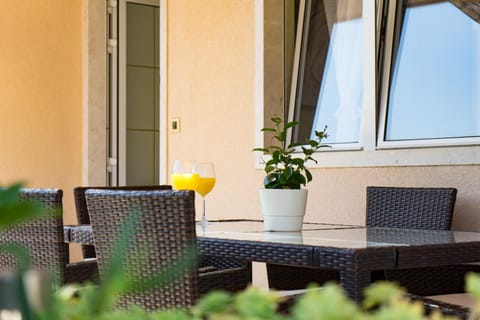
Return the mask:
[[[168,115],[173,159],[211,160],[217,185],[210,218],[261,218],[254,169],[254,1],[168,2]],[[314,169],[306,220],[363,224],[367,185],[458,188],[454,228],[480,230],[480,167]],[[197,214],[200,204],[197,205]]]

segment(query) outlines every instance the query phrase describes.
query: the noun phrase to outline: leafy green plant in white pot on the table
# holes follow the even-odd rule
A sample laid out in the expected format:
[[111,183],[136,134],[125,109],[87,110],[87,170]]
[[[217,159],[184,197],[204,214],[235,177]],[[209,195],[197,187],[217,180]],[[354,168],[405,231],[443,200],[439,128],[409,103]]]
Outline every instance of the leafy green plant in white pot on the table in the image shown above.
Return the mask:
[[276,143],[253,151],[263,152],[271,158],[264,161],[264,189],[260,189],[260,201],[267,231],[300,231],[305,215],[307,189],[302,189],[312,181],[312,174],[306,167],[308,161],[317,162],[312,156],[328,137],[326,130],[315,131],[315,139],[305,143],[292,142],[287,145],[289,130],[298,125],[297,121],[284,123],[280,117],[273,117],[273,128],[263,128],[262,132],[272,132]]

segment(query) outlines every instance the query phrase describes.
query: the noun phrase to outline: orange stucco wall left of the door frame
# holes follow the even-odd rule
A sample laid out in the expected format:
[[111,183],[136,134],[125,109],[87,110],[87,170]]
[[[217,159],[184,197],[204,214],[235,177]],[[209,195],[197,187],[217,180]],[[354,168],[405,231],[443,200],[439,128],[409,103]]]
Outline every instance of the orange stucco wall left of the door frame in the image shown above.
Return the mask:
[[81,0],[2,0],[0,184],[64,190],[81,182]]

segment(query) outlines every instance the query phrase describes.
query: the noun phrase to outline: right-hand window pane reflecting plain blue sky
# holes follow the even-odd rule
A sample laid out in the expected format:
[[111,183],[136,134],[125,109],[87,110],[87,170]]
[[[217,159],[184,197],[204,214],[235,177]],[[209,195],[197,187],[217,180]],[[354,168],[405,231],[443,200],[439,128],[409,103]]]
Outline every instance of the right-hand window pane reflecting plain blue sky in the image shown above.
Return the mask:
[[414,2],[399,9],[385,140],[478,136],[479,24],[449,1]]

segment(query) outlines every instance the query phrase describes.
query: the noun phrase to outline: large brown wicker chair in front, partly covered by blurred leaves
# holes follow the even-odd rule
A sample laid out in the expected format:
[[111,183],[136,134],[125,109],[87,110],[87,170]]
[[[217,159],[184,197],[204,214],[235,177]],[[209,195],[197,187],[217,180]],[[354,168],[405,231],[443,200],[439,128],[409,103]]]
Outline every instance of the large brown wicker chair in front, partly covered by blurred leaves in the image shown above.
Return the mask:
[[[163,270],[187,247],[195,247],[193,191],[88,190],[85,193],[95,239],[100,281],[105,277],[123,221],[138,215],[139,227],[124,257],[124,276],[145,280]],[[135,262],[146,261],[144,265]],[[132,263],[133,262],[133,263]],[[226,264],[229,263],[229,264]],[[119,307],[137,304],[147,310],[193,305],[213,289],[237,291],[251,281],[251,270],[241,261],[208,259],[182,274],[173,283],[122,297]],[[138,279],[138,278],[137,278]]]

